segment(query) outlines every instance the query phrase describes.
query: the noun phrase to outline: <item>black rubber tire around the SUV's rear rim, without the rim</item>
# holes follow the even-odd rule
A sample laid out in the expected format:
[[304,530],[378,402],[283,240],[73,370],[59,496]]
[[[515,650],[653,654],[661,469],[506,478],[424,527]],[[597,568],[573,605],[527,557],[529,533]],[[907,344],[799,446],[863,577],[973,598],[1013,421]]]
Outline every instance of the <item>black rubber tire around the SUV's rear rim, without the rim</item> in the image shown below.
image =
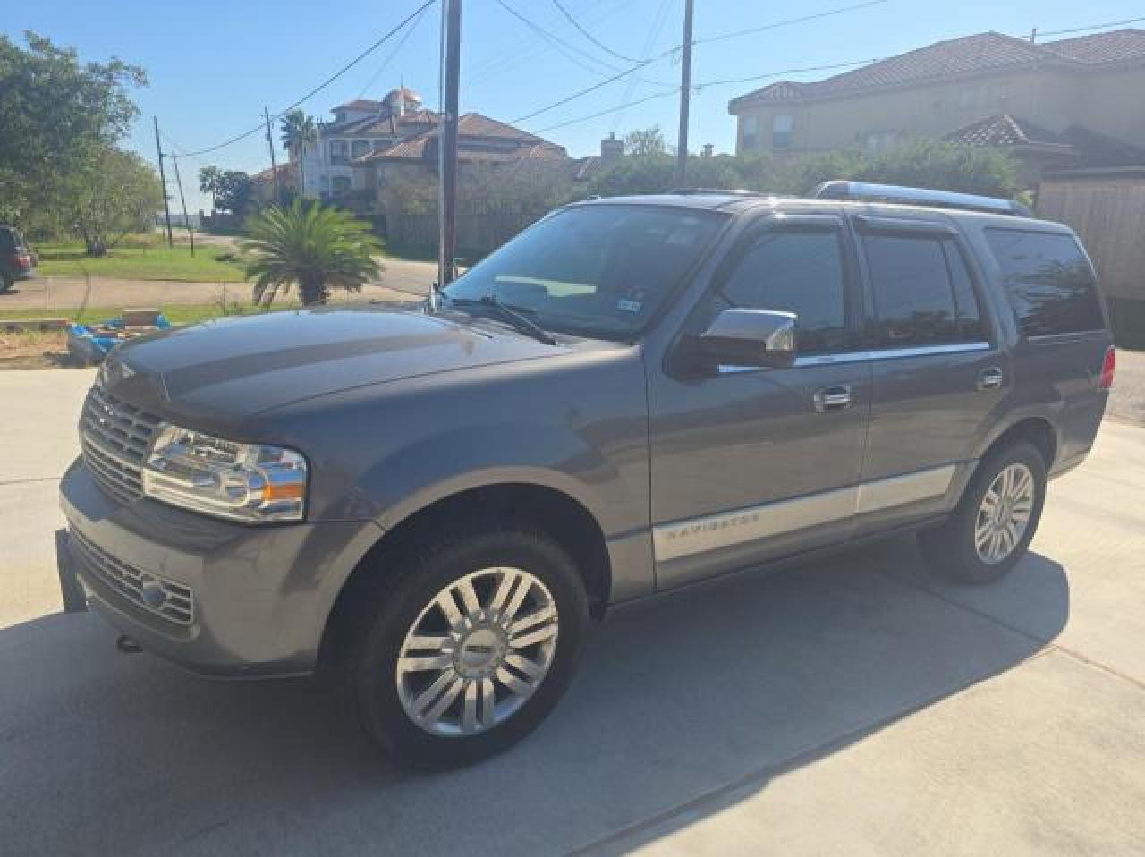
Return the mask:
[[[982,560],[974,547],[974,526],[990,483],[1011,464],[1024,464],[1034,478],[1034,502],[1021,538],[1001,561]],[[1025,556],[1037,532],[1045,503],[1045,459],[1032,443],[1017,441],[982,458],[966,486],[954,514],[939,527],[918,534],[918,547],[930,565],[957,583],[992,583],[1012,569]]]

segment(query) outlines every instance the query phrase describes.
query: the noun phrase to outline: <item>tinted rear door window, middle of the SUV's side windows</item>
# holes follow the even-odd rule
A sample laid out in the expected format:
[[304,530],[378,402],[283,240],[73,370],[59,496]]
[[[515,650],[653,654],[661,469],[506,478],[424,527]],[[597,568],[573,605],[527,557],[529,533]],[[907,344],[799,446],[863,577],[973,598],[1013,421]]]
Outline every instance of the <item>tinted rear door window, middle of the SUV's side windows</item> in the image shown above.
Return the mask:
[[869,235],[863,239],[881,348],[985,338],[965,262],[953,241]]

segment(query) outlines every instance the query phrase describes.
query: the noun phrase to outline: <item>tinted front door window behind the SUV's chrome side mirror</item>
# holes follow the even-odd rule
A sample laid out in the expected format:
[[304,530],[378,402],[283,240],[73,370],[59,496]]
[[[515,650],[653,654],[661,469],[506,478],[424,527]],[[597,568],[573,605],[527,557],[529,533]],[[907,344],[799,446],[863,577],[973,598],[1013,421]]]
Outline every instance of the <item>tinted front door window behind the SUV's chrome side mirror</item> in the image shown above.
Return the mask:
[[846,292],[839,237],[831,231],[768,233],[719,290],[727,304],[795,313],[800,352],[845,349]]

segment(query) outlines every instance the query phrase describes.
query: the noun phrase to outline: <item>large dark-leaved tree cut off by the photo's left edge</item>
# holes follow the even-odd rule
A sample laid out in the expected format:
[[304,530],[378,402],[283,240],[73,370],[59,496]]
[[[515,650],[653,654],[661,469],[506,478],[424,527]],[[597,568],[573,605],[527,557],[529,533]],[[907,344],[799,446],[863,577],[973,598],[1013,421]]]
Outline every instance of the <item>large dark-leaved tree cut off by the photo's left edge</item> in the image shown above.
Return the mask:
[[33,32],[25,41],[0,36],[0,199],[7,218],[48,234],[65,227],[76,179],[127,134],[139,113],[128,91],[147,76],[117,57],[80,62]]

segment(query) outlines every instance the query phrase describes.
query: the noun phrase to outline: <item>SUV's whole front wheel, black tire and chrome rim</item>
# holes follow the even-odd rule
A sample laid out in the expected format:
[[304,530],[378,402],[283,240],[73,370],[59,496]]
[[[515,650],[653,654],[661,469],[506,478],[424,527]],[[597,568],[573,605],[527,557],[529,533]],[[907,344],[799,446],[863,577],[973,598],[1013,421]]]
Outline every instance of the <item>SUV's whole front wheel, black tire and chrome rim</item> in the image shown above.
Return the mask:
[[349,663],[366,734],[397,762],[440,769],[506,749],[564,693],[586,597],[566,551],[493,524],[405,551]]

